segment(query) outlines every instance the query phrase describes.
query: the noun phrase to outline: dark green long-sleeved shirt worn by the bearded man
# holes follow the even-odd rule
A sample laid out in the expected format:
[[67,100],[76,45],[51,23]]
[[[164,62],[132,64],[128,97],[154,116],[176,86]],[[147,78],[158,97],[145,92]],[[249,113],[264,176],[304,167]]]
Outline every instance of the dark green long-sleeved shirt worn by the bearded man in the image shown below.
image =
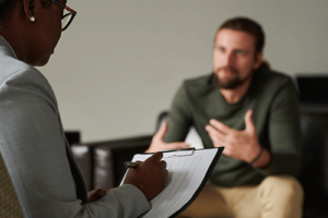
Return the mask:
[[210,119],[244,130],[247,110],[253,119],[260,145],[272,159],[265,169],[222,155],[211,181],[222,186],[259,184],[270,174],[295,175],[301,167],[301,128],[298,97],[292,80],[265,69],[255,71],[251,85],[236,104],[227,104],[213,85],[214,74],[187,80],[178,89],[168,114],[165,142],[183,142],[194,125],[204,147],[213,147],[206,131]]

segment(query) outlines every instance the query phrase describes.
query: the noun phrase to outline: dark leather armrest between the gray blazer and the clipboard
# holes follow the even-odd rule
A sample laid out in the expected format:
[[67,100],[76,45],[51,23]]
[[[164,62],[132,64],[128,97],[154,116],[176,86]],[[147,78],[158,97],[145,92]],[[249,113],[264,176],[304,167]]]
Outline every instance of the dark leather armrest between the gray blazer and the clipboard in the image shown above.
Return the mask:
[[110,189],[124,175],[124,162],[143,153],[153,135],[73,144],[72,153],[84,177],[86,190]]

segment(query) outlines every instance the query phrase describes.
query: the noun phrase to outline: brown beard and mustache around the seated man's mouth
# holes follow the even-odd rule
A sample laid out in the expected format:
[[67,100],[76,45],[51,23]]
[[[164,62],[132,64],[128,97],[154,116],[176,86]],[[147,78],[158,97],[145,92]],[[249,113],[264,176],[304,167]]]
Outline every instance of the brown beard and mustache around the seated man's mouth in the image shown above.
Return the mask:
[[[230,71],[232,72],[235,76],[231,77],[229,80],[222,81],[219,78],[219,73],[220,71]],[[224,66],[224,68],[220,68],[216,70],[215,72],[216,74],[216,85],[219,86],[219,88],[223,88],[223,89],[234,89],[236,87],[238,87],[239,85],[242,85],[246,80],[242,80],[238,76],[238,71],[232,66]]]

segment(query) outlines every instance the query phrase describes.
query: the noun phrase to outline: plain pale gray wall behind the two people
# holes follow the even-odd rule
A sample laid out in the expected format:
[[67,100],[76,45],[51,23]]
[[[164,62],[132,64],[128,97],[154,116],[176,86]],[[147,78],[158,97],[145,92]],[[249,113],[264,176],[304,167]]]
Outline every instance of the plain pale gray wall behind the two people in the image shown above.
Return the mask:
[[210,73],[219,25],[258,21],[278,71],[328,72],[327,0],[70,0],[78,11],[48,65],[66,130],[82,141],[154,132],[183,80]]

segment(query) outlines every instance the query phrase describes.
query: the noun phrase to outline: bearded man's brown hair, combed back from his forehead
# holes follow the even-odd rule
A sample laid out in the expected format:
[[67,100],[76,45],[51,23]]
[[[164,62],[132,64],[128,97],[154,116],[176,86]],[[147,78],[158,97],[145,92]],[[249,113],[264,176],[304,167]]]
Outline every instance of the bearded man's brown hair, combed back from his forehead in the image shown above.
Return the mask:
[[[233,31],[246,32],[255,37],[256,51],[261,52],[265,46],[265,33],[262,27],[255,21],[247,17],[234,17],[225,21],[218,29],[231,28]],[[216,35],[218,35],[216,32]],[[215,35],[215,37],[216,37]]]

